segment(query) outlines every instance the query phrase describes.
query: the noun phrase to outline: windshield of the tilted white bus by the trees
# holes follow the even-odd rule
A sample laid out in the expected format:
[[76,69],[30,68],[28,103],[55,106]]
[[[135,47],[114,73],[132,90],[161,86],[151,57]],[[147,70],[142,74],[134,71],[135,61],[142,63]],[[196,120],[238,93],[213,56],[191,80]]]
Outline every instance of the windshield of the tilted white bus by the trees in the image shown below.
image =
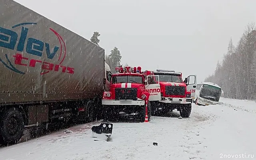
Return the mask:
[[220,92],[220,88],[204,84],[199,96],[207,100],[218,102],[220,100]]

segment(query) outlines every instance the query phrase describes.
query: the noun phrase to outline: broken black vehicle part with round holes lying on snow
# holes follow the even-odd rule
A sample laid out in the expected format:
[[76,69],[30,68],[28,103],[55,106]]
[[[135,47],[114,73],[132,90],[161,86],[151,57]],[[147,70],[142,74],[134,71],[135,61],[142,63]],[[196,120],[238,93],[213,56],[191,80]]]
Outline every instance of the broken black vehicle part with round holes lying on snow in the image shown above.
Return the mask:
[[112,135],[113,124],[112,123],[102,123],[99,126],[92,126],[92,137],[96,138],[94,141],[110,140]]

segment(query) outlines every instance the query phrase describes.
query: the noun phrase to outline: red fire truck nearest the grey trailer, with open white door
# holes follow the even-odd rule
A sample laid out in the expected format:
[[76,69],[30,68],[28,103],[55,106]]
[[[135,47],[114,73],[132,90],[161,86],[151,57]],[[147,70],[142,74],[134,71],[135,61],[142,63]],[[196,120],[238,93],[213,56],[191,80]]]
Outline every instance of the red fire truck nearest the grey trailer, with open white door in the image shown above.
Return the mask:
[[[115,120],[119,116],[137,116],[144,122],[146,103],[148,100],[148,120],[151,115],[150,101],[158,101],[160,84],[158,75],[145,75],[141,67],[116,67],[116,74],[112,74],[110,91],[103,93],[102,107],[106,120]],[[148,78],[154,78],[155,83],[149,83]]]

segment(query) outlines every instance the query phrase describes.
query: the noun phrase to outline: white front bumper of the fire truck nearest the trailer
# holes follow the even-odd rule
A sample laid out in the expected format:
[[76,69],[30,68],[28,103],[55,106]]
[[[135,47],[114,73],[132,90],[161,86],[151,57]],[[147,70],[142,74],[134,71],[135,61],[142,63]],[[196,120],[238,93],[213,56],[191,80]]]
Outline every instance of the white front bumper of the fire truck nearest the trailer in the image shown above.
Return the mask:
[[102,100],[102,105],[132,105],[143,106],[144,100]]

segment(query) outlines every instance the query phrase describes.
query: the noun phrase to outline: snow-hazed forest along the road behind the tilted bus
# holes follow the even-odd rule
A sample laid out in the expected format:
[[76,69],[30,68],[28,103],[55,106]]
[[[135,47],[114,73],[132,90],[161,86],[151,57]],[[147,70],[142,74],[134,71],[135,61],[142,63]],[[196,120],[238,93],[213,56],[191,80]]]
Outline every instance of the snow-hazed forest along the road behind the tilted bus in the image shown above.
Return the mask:
[[248,24],[238,44],[232,38],[222,62],[218,62],[215,72],[204,82],[218,84],[224,97],[256,100],[256,27]]

